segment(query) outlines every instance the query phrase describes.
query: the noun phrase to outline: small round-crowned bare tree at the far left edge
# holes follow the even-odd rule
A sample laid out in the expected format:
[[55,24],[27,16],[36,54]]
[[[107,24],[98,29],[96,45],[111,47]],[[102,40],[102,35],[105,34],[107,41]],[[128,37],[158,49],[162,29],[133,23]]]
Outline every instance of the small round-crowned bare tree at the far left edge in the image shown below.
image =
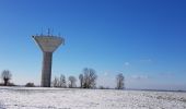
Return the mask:
[[4,81],[4,86],[7,86],[12,77],[12,74],[9,70],[4,70],[1,73],[1,78]]

